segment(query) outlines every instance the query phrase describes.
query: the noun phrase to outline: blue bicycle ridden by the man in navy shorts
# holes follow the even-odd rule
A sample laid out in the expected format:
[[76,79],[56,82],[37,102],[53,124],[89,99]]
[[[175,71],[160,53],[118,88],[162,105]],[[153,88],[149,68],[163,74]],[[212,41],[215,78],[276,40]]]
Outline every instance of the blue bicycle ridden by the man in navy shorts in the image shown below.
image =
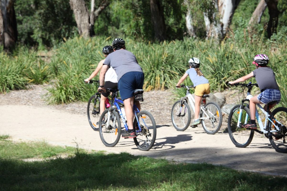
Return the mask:
[[[114,147],[121,137],[121,121],[128,130],[125,114],[123,113],[123,101],[117,98],[118,90],[109,89],[112,92],[111,107],[106,109],[100,117],[100,138],[105,146]],[[134,91],[135,101],[143,101],[141,89]],[[133,129],[136,137],[133,138],[135,145],[141,151],[148,151],[154,145],[156,140],[156,122],[154,117],[148,111],[139,111],[137,106],[133,105],[135,119]]]

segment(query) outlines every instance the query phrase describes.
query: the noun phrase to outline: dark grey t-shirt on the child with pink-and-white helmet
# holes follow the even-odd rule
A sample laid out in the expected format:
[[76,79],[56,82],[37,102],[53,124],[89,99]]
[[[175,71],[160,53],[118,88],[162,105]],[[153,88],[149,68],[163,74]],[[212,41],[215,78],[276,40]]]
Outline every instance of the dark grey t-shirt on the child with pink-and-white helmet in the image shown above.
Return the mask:
[[259,67],[253,70],[253,76],[260,88],[260,91],[264,89],[278,89],[279,86],[275,79],[275,74],[273,70],[269,67]]

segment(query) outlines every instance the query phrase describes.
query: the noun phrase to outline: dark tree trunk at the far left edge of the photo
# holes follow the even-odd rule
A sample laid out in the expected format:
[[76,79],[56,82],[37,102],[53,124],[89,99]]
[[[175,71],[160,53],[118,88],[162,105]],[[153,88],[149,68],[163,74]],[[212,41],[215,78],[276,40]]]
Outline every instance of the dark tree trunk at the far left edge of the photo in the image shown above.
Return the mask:
[[1,0],[0,8],[3,19],[2,39],[4,49],[11,51],[18,39],[14,0]]

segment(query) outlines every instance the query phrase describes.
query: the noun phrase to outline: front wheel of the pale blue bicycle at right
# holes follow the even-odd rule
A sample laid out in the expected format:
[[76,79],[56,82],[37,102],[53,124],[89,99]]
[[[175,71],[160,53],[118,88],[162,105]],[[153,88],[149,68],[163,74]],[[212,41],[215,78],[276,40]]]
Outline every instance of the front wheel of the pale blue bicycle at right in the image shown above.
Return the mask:
[[[231,109],[228,117],[227,128],[232,143],[236,147],[243,148],[247,147],[251,143],[254,135],[254,129],[250,130],[242,127],[242,125],[245,123],[247,115],[248,115],[247,122],[250,120],[250,111],[246,106],[244,106],[242,116],[239,116],[239,109],[240,105],[236,105]],[[239,127],[237,127],[239,117],[240,117],[240,123]]]

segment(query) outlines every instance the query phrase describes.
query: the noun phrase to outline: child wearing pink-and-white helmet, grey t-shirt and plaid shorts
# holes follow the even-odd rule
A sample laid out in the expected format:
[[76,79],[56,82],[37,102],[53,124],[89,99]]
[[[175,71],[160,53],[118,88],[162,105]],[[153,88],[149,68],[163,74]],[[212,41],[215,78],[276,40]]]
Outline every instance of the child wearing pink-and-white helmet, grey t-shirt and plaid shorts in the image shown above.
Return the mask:
[[275,74],[271,68],[267,66],[269,62],[268,56],[265,54],[257,54],[253,58],[252,64],[255,64],[256,69],[250,74],[238,78],[237,80],[230,81],[229,84],[235,84],[238,82],[243,82],[249,78],[255,77],[255,80],[260,88],[261,93],[252,97],[249,102],[250,107],[250,122],[243,124],[242,127],[249,129],[257,129],[255,122],[255,110],[256,104],[265,104],[264,110],[267,111],[267,103],[276,101],[273,105],[269,106],[269,109],[274,107],[281,100],[281,93],[279,86],[275,79]]

